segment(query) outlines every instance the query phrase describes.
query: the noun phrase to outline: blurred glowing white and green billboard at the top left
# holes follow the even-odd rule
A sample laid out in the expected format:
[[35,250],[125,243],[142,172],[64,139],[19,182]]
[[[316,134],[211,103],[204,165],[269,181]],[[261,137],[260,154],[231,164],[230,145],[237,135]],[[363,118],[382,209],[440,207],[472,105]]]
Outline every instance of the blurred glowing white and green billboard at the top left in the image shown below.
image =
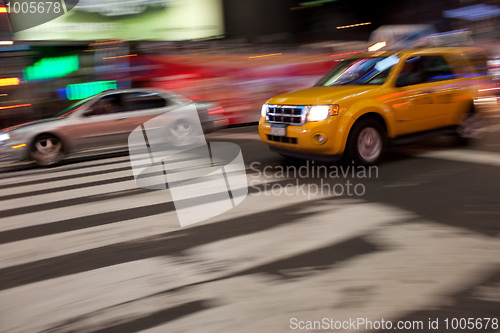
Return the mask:
[[181,41],[223,33],[222,0],[80,0],[64,15],[16,32],[14,37],[38,41]]

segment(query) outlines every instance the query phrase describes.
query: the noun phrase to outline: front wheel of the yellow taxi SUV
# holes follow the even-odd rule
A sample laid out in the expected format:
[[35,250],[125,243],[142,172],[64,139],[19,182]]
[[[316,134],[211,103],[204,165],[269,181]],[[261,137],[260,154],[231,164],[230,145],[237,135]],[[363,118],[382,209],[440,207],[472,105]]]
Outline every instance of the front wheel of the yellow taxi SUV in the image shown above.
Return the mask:
[[347,157],[356,164],[375,165],[382,157],[385,141],[385,131],[379,121],[362,119],[349,135]]

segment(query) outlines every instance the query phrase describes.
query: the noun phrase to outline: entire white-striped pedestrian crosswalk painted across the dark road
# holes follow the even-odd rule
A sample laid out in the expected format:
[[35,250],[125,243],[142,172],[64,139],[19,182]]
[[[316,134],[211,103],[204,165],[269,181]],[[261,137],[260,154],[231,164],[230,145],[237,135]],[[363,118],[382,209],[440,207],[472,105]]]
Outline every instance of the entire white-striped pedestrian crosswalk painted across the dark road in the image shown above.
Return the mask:
[[[495,153],[420,156],[500,165]],[[495,238],[362,199],[271,200],[251,192],[237,208],[180,228],[169,191],[136,188],[125,180],[131,171],[119,170],[128,159],[113,161],[102,175],[89,174],[101,168],[92,163],[54,174],[44,170],[54,184],[29,183],[39,177],[36,171],[19,176],[18,186],[0,179],[0,200],[10,198],[0,201],[6,332],[120,331],[130,323],[149,333],[289,331],[291,316],[317,319],[318,308],[333,306],[339,320],[353,317],[345,300],[356,297],[349,290],[366,288],[362,297],[369,302],[356,303],[356,314],[398,318],[445,304],[445,295],[500,264]],[[62,179],[73,176],[73,182]],[[253,186],[289,182],[253,180]],[[50,185],[53,190],[46,190]],[[346,242],[350,246],[342,247]],[[341,259],[335,262],[335,256]],[[284,262],[288,266],[280,266]],[[173,316],[176,311],[182,315]],[[148,316],[157,313],[166,318],[148,325]]]

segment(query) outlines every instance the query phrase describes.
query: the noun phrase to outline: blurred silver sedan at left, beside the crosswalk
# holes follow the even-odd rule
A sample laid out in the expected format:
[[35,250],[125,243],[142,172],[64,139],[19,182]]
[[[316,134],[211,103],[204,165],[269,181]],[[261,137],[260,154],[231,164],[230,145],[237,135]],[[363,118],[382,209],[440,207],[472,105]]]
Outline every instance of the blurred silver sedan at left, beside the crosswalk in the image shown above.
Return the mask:
[[[205,133],[222,125],[222,109],[209,101],[190,101],[174,93],[129,89],[81,100],[55,117],[0,131],[0,161],[32,160],[41,166],[82,153],[126,151],[128,136],[144,122],[181,108],[197,110]],[[196,113],[195,113],[196,114]],[[187,138],[192,119],[168,124],[172,140]]]

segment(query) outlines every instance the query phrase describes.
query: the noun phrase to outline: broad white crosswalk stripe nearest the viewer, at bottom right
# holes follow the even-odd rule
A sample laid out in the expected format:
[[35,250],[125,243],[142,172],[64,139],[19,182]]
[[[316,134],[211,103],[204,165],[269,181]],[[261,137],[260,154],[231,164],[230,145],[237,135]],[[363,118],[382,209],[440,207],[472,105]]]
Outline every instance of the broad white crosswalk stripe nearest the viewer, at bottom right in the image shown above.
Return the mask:
[[[448,295],[473,286],[478,282],[478,273],[498,265],[497,258],[487,255],[495,242],[487,237],[453,233],[455,228],[429,227],[414,223],[375,230],[374,242],[385,245],[386,250],[355,258],[337,269],[309,272],[307,279],[280,283],[255,275],[183,289],[185,302],[202,295],[213,299],[213,308],[145,332],[227,332],[234,327],[242,328],[238,332],[289,332],[294,317],[397,320],[410,311],[448,305],[452,301]],[[498,246],[494,249],[498,253]],[[464,250],[467,256],[461,255]],[[460,264],[450,265],[450,260]],[[300,276],[301,272],[296,273]],[[237,297],[227,290],[236,290]],[[161,306],[172,296],[165,295],[156,304]],[[232,320],[221,320],[224,318]],[[122,322],[128,322],[128,318],[122,317]]]

